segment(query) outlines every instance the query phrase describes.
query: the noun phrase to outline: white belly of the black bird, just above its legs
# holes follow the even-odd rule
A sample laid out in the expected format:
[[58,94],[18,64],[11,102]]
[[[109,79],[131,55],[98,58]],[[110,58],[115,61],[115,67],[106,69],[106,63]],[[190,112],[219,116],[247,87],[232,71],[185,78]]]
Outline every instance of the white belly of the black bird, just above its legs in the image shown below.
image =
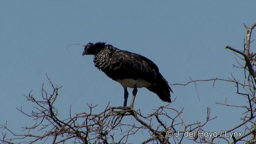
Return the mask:
[[134,88],[135,84],[137,88],[143,88],[151,85],[146,80],[142,80],[140,78],[138,78],[137,80],[134,80],[132,78],[122,80],[117,79],[116,81],[119,82],[124,88]]

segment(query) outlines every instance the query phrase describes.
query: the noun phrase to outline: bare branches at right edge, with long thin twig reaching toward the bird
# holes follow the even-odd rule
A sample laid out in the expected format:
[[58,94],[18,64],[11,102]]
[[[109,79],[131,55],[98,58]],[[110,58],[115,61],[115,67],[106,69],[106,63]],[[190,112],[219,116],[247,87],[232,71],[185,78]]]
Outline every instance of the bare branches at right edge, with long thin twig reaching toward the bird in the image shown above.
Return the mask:
[[[230,130],[226,130],[226,133],[229,132],[237,132],[239,131],[239,128],[244,127],[244,133],[242,136],[238,137],[232,137],[231,142],[228,138],[224,136],[223,133],[219,133],[216,137],[213,137],[212,139],[207,138],[201,138],[200,141],[196,141],[198,143],[214,143],[213,141],[217,138],[224,139],[228,144],[236,144],[238,141],[242,141],[246,144],[254,144],[256,143],[256,120],[255,120],[255,112],[256,112],[256,51],[250,53],[250,44],[251,41],[251,34],[252,30],[256,27],[256,23],[252,24],[252,26],[248,27],[246,24],[244,24],[244,27],[246,28],[246,38],[244,42],[244,50],[237,50],[235,48],[232,48],[231,46],[226,46],[225,48],[232,50],[234,53],[240,54],[242,56],[239,57],[243,62],[245,62],[245,66],[243,66],[238,60],[236,62],[239,64],[239,66],[234,66],[236,68],[243,68],[244,69],[244,82],[239,82],[239,80],[236,80],[234,76],[231,74],[232,78],[228,79],[222,79],[222,78],[212,78],[208,80],[191,80],[187,82],[186,84],[172,84],[172,85],[182,85],[186,86],[190,83],[196,83],[196,82],[210,82],[213,81],[213,87],[216,81],[223,81],[223,82],[231,82],[234,83],[236,86],[236,94],[239,94],[247,99],[247,105],[232,105],[228,104],[225,100],[224,103],[216,102],[216,104],[224,105],[224,106],[231,106],[236,108],[244,108],[245,112],[242,114],[244,115],[241,120],[242,122],[238,124],[237,126],[234,126],[234,128],[231,128]],[[242,92],[243,91],[243,92]],[[198,131],[200,132],[202,128],[200,128]],[[194,140],[196,140],[195,138]]]

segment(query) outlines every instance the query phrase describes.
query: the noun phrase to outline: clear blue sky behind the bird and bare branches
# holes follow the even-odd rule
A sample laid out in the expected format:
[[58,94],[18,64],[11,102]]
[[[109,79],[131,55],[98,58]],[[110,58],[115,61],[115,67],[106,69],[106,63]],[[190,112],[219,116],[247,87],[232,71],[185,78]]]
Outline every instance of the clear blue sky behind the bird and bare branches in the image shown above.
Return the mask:
[[[94,67],[93,56],[82,56],[82,46],[66,49],[70,44],[101,41],[146,56],[170,84],[190,78],[227,79],[231,73],[242,80],[244,71],[232,66],[235,55],[224,47],[243,48],[243,23],[256,22],[255,6],[255,1],[1,0],[0,124],[8,121],[16,132],[31,124],[16,107],[30,112],[33,104],[23,95],[33,90],[40,98],[43,83],[51,92],[46,73],[54,84],[63,86],[56,102],[63,118],[70,105],[74,114],[88,112],[86,103],[98,104],[98,112],[109,101],[110,106],[122,106],[122,86]],[[226,98],[230,104],[245,104],[233,84],[216,82],[212,88],[212,82],[197,83],[200,101],[194,84],[172,86],[172,90],[176,101],[170,107],[184,108],[186,123],[204,122],[207,107],[212,117],[218,116],[204,127],[209,132],[241,122],[243,109],[215,104]],[[132,94],[132,89],[128,92]],[[131,96],[128,104],[130,100]],[[142,88],[134,108],[146,115],[166,104]]]

